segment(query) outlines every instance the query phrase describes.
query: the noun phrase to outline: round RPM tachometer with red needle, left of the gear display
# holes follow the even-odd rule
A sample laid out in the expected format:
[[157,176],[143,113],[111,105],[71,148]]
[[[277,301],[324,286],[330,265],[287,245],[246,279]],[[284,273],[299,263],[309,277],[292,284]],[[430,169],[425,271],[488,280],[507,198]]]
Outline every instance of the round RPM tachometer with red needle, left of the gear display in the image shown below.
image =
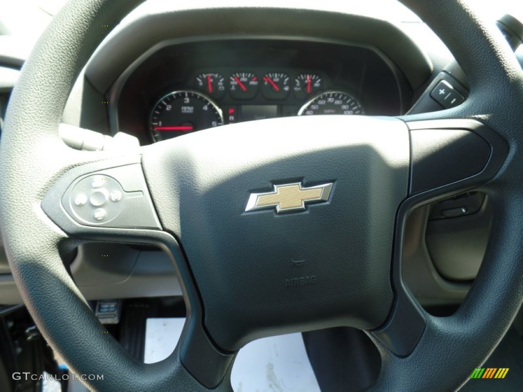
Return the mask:
[[223,124],[221,109],[207,96],[196,91],[173,91],[162,97],[151,113],[153,141]]

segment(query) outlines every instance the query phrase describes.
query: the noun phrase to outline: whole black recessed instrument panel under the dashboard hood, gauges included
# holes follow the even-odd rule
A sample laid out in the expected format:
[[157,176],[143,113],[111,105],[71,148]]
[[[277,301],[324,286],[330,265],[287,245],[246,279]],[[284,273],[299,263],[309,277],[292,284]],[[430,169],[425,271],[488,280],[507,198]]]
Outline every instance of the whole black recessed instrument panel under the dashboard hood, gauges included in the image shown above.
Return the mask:
[[165,41],[112,87],[111,132],[142,145],[242,121],[402,114],[400,70],[375,48],[314,39]]

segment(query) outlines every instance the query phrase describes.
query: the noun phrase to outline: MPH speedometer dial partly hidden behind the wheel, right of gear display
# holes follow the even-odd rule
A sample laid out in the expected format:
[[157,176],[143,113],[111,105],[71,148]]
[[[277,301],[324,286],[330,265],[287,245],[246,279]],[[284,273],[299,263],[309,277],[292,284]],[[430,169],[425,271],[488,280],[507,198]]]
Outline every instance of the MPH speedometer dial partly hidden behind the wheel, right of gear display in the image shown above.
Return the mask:
[[327,91],[305,103],[298,116],[311,114],[365,114],[361,103],[353,96],[341,91]]

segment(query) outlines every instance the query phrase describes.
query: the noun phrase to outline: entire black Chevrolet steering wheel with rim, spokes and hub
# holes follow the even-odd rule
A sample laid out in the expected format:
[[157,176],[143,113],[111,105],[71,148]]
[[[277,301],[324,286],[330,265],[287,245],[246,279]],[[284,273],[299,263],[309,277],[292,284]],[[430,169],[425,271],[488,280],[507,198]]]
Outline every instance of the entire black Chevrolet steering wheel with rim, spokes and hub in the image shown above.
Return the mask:
[[[84,381],[95,390],[231,390],[235,353],[247,342],[351,326],[380,351],[373,390],[463,385],[522,301],[523,77],[501,33],[460,0],[403,0],[468,75],[470,96],[453,109],[274,119],[126,153],[73,150],[58,134],[73,83],[107,33],[100,26],[139,3],[67,4],[10,98],[3,236],[53,349],[74,373],[104,375]],[[434,317],[402,282],[405,220],[416,206],[470,189],[495,205],[492,238],[461,307]],[[103,333],[62,262],[89,240],[154,244],[172,259],[187,321],[164,361],[139,363]]]

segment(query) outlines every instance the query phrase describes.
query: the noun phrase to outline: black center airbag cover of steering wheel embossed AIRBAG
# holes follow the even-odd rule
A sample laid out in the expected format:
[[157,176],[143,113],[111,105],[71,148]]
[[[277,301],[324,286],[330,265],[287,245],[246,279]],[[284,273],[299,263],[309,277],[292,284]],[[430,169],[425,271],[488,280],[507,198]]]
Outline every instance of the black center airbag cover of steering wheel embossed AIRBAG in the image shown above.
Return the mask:
[[[392,304],[409,151],[400,120],[337,116],[249,122],[152,146],[143,156],[147,183],[164,228],[183,244],[212,339],[236,351],[318,320],[380,326]],[[306,210],[245,211],[252,194],[281,183],[332,186]]]

